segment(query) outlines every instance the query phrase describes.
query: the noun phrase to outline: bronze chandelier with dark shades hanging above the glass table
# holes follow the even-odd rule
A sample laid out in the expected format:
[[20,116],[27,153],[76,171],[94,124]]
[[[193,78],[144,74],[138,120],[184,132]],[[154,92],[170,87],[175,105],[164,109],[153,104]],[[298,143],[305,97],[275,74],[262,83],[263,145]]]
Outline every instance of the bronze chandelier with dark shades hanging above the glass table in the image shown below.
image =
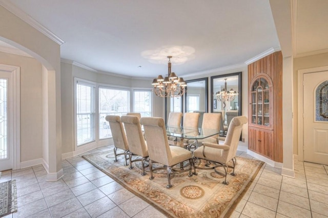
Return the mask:
[[159,75],[157,79],[153,79],[152,85],[154,89],[152,90],[156,96],[159,97],[179,97],[186,92],[186,82],[182,77],[177,77],[174,72],[171,73],[171,58],[168,56],[168,76],[163,78],[162,75]]

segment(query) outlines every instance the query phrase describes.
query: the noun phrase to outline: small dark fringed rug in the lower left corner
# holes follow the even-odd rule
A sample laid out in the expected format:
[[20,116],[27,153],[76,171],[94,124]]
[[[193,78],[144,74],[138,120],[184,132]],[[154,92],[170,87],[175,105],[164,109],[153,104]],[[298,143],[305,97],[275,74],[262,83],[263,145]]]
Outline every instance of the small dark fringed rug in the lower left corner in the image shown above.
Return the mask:
[[0,217],[17,211],[16,180],[0,183]]

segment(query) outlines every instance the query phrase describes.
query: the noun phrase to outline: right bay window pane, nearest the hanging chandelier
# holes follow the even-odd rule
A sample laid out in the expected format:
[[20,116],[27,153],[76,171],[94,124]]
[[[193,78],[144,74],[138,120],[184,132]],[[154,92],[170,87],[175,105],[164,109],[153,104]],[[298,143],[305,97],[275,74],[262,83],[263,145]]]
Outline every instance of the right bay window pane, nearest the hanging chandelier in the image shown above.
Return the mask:
[[140,113],[141,117],[152,116],[152,92],[145,90],[134,91],[133,112]]

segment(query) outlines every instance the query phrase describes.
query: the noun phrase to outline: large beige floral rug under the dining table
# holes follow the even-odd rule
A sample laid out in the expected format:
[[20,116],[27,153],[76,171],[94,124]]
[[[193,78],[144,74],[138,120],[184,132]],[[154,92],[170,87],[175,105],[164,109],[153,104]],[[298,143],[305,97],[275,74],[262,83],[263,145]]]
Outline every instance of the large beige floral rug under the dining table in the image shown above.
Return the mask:
[[133,169],[129,169],[124,166],[122,156],[114,162],[108,151],[83,158],[168,217],[229,217],[263,164],[237,157],[237,176],[228,175],[229,185],[222,184],[224,177],[213,169],[196,169],[198,175],[192,177],[188,177],[188,171],[175,173],[171,180],[173,187],[167,189],[166,170],[157,171],[150,180],[149,171],[141,176],[140,161],[133,162]]

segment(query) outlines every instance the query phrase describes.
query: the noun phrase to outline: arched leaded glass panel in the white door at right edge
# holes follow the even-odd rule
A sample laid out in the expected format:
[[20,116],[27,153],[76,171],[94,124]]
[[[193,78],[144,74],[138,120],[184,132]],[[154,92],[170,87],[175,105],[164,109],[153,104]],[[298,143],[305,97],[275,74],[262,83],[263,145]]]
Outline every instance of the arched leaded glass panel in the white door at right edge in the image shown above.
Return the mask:
[[328,121],[328,80],[316,89],[316,121]]

